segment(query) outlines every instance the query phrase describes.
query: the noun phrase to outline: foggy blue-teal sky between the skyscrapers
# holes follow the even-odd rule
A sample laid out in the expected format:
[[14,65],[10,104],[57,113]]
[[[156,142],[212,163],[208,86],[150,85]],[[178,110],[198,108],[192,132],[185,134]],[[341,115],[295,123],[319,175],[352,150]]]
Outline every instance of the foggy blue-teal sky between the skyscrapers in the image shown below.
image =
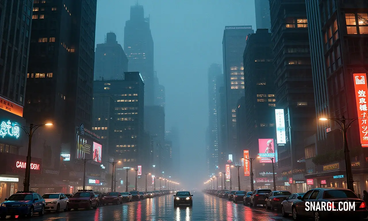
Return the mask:
[[[136,0],[98,0],[96,44],[113,31],[124,45],[125,21]],[[222,37],[226,25],[255,27],[254,0],[139,0],[151,17],[155,70],[166,89],[166,129],[177,125],[181,141],[181,176],[188,188],[208,179],[205,131],[208,126],[207,70],[223,64]],[[124,48],[124,46],[123,46]],[[198,168],[200,167],[200,168]],[[144,170],[144,168],[142,168]]]

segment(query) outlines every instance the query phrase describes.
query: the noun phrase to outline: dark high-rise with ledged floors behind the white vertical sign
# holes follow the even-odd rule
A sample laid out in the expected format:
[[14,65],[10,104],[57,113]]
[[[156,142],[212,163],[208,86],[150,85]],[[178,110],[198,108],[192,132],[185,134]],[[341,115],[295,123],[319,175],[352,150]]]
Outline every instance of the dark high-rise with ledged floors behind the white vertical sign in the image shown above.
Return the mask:
[[[276,108],[284,109],[287,139],[277,148],[279,172],[305,169],[303,142],[316,131],[305,0],[270,0],[270,15]],[[279,184],[298,174],[279,176]]]

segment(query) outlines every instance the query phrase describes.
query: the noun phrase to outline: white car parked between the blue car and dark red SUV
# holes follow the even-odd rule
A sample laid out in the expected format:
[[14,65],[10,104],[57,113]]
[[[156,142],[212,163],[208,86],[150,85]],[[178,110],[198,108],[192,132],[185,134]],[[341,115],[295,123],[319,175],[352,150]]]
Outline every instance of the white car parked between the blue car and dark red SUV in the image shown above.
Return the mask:
[[46,211],[56,211],[58,213],[60,210],[68,210],[69,199],[63,193],[45,193],[42,198],[46,202]]

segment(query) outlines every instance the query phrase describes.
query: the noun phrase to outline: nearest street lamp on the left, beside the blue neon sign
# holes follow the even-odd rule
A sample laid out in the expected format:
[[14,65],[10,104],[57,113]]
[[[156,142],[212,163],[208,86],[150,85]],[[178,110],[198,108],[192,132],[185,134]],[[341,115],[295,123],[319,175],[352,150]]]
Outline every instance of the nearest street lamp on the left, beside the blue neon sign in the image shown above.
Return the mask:
[[[32,136],[33,133],[37,130],[37,128],[42,127],[42,126],[51,126],[53,125],[52,123],[45,123],[45,124],[29,124],[29,126],[20,126],[20,125],[14,125],[14,127],[20,127],[22,130],[24,130],[25,134],[27,134],[28,136],[28,155],[27,155],[27,160],[26,160],[26,166],[25,166],[25,175],[24,175],[24,181],[23,181],[23,185],[24,191],[29,191],[29,181],[30,181],[30,177],[31,177],[31,150],[32,150]],[[25,130],[26,127],[29,127],[29,132]],[[14,129],[15,130],[15,129]],[[17,131],[19,132],[19,130]],[[14,131],[13,131],[14,133]]]

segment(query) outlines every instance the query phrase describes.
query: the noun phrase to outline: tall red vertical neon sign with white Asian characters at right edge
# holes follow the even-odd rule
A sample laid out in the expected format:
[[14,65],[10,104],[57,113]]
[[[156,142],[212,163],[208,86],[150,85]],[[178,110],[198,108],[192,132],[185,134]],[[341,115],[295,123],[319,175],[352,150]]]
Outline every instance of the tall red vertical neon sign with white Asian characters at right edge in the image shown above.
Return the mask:
[[360,143],[362,147],[368,147],[368,109],[367,109],[367,74],[354,74],[355,99],[357,101],[357,110],[360,131]]

